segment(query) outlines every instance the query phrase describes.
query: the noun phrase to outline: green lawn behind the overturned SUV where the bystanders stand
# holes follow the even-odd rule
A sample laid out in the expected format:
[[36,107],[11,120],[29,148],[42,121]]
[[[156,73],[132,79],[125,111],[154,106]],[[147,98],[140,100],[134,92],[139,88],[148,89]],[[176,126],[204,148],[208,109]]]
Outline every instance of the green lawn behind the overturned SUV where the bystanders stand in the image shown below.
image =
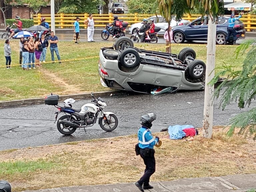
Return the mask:
[[[11,41],[12,64],[18,64],[19,40]],[[3,45],[4,41],[1,40]],[[74,42],[59,42],[59,52],[61,59],[71,59],[86,56],[96,56],[99,54],[100,47],[111,47],[112,43],[87,43],[82,42],[75,45]],[[163,44],[136,44],[138,48],[155,48]],[[178,53],[185,46],[174,46],[173,53]],[[197,59],[206,61],[206,46],[192,46],[197,53]],[[216,48],[216,67],[223,62],[233,64],[240,69],[241,62],[245,55],[238,59],[234,56],[236,47],[217,47]],[[165,51],[160,49],[159,51]],[[109,90],[101,86],[98,75],[98,58],[67,61],[61,65],[59,63],[43,64],[43,67],[36,70],[23,71],[20,67],[12,67],[7,70],[3,55],[3,46],[0,49],[2,60],[0,63],[0,101],[42,97],[51,92],[60,95],[74,94],[91,91]],[[56,58],[56,55],[55,55]],[[46,61],[50,61],[50,50],[47,50]]]

